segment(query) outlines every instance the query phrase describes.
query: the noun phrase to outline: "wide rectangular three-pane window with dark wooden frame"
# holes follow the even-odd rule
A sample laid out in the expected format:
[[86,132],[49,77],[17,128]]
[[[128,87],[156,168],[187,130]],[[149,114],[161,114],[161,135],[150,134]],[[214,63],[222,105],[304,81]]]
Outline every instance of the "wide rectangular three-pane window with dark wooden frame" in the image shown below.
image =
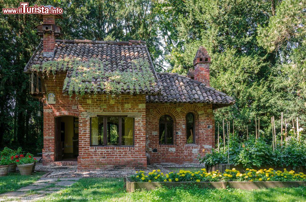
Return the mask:
[[91,146],[133,146],[134,118],[97,116],[90,118]]

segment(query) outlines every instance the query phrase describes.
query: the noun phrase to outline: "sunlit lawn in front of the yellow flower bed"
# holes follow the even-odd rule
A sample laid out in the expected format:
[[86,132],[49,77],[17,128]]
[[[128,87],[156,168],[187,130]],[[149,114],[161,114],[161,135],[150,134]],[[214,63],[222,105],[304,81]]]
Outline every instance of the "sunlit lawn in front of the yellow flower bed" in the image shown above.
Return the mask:
[[[65,197],[84,197],[78,201],[306,201],[306,187],[257,189],[199,189],[195,186],[158,188],[152,191],[127,193],[122,178],[80,179],[71,187],[53,193],[56,201]],[[46,199],[47,201],[47,199]]]

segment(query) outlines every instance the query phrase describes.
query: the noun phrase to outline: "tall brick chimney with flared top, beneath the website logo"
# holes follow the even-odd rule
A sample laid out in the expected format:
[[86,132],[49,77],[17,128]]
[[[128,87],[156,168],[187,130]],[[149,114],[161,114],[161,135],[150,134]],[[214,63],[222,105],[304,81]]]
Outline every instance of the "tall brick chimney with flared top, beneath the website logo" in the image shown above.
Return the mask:
[[[45,6],[51,7],[51,5]],[[37,33],[43,37],[43,56],[53,57],[55,47],[55,37],[62,35],[61,27],[55,25],[55,19],[63,16],[59,15],[38,15],[40,19],[43,19],[43,24],[37,26]]]

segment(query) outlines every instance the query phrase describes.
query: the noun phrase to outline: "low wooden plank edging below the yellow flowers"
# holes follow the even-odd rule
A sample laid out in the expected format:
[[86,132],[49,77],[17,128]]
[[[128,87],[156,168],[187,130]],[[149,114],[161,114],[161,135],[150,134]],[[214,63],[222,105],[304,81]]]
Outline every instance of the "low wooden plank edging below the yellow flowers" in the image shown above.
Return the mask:
[[136,189],[153,190],[158,187],[177,187],[177,186],[196,185],[199,188],[205,189],[263,189],[274,187],[298,187],[306,186],[306,181],[289,181],[289,182],[130,182],[128,178],[124,178],[124,186],[127,192],[134,192]]

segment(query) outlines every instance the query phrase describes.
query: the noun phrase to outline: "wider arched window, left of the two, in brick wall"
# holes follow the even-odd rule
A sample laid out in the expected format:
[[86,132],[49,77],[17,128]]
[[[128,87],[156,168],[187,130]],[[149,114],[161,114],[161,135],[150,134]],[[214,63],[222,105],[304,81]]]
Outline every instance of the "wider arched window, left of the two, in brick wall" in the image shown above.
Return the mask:
[[168,115],[159,118],[159,144],[173,144],[173,119]]

